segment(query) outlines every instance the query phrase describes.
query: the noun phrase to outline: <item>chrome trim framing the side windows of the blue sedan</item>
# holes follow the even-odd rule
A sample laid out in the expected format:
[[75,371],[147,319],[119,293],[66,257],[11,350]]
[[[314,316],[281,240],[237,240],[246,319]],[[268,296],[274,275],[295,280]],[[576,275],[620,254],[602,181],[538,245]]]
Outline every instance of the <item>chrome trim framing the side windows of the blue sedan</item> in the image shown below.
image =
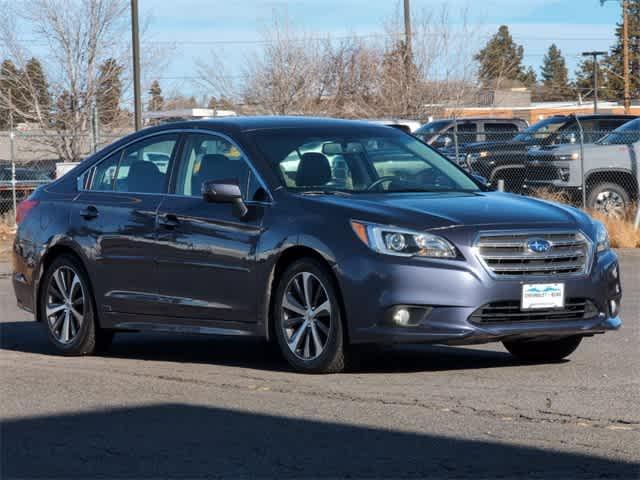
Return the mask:
[[[229,142],[230,144],[232,144],[234,147],[236,147],[238,149],[238,151],[240,151],[240,153],[242,154],[243,157],[243,161],[247,164],[247,166],[249,167],[249,170],[251,171],[251,173],[253,175],[255,175],[255,177],[258,179],[258,182],[260,183],[260,185],[262,186],[262,188],[264,189],[265,192],[267,192],[267,195],[269,196],[269,201],[245,201],[245,203],[249,204],[249,205],[271,205],[274,203],[273,200],[273,195],[271,194],[271,190],[269,190],[269,187],[267,187],[266,182],[264,181],[264,179],[262,178],[262,176],[258,173],[258,171],[256,170],[255,166],[253,165],[253,163],[251,162],[251,160],[249,159],[249,156],[247,155],[247,153],[244,151],[244,149],[242,147],[240,147],[240,145],[238,145],[238,143],[231,138],[229,135],[219,132],[217,130],[209,130],[209,129],[198,129],[198,128],[189,128],[189,129],[171,129],[171,130],[162,130],[160,132],[153,132],[150,133],[148,135],[145,135],[143,137],[140,138],[136,138],[135,140],[131,140],[130,142],[122,145],[121,147],[119,147],[118,149],[114,150],[113,152],[111,152],[109,155],[107,155],[104,158],[101,158],[99,161],[97,161],[96,163],[94,163],[93,165],[91,165],[89,168],[87,168],[84,172],[82,172],[79,176],[78,176],[78,192],[94,192],[94,193],[109,193],[111,195],[121,195],[121,194],[125,194],[125,195],[166,195],[166,196],[175,196],[175,197],[182,197],[182,198],[198,198],[198,197],[194,197],[192,195],[181,195],[181,194],[176,194],[176,193],[169,193],[168,191],[165,192],[160,192],[158,193],[150,193],[150,192],[118,192],[116,190],[113,191],[104,191],[104,190],[91,190],[90,188],[87,187],[91,187],[91,184],[93,183],[93,174],[95,172],[95,169],[98,165],[100,165],[102,162],[104,162],[105,160],[107,160],[111,155],[115,154],[115,153],[122,153],[126,148],[130,147],[131,145],[141,142],[141,141],[145,141],[147,139],[153,138],[153,137],[157,137],[160,135],[167,135],[167,134],[172,134],[172,133],[176,133],[178,135],[180,134],[187,134],[187,133],[196,133],[196,134],[200,134],[200,135],[210,135],[212,137],[220,137],[224,140],[226,140],[227,142]],[[180,159],[178,159],[180,160]],[[173,170],[173,166],[172,166],[172,170]],[[80,179],[84,178],[85,175],[89,174],[90,175],[90,179],[88,179],[88,182],[84,182],[84,186],[83,188],[80,188]],[[169,178],[169,185],[171,184],[171,178]]]

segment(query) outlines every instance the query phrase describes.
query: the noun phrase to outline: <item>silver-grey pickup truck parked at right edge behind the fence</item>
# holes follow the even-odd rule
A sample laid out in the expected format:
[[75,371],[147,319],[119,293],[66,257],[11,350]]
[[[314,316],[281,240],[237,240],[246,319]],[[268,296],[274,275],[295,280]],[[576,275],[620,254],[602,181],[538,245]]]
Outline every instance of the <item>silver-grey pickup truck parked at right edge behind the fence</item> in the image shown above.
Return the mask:
[[639,158],[640,118],[582,148],[570,144],[530,150],[525,185],[528,191],[543,188],[579,199],[584,164],[587,207],[621,217],[638,199]]

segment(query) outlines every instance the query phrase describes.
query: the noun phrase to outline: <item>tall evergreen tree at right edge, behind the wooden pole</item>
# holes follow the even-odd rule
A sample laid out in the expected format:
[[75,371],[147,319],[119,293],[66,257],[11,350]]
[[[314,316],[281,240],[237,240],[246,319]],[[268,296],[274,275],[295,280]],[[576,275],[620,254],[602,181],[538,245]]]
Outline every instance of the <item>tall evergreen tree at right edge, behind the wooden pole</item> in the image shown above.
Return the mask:
[[[629,83],[631,98],[640,98],[640,0],[629,0]],[[604,62],[612,72],[607,75],[606,92],[610,98],[624,97],[624,67],[622,50],[622,20],[616,28],[616,44]]]

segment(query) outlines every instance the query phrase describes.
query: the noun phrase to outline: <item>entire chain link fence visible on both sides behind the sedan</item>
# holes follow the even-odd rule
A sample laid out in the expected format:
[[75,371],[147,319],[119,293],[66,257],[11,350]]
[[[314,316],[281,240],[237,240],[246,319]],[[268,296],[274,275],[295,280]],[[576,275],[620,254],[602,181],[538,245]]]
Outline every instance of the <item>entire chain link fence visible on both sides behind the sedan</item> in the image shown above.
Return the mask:
[[[81,156],[123,136],[68,137]],[[15,221],[15,207],[34,189],[56,178],[60,155],[52,133],[0,132],[0,215]],[[428,139],[452,161],[494,188],[549,198],[617,218],[636,218],[640,131],[605,130],[463,132]]]

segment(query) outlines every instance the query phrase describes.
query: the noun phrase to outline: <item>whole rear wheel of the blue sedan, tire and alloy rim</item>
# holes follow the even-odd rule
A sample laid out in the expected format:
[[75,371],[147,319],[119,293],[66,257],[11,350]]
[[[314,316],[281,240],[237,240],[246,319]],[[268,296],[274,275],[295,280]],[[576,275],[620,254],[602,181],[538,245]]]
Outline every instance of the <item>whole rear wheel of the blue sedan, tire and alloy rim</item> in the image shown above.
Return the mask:
[[104,351],[113,339],[113,332],[97,325],[89,277],[72,255],[60,255],[47,268],[42,277],[38,313],[49,341],[63,355]]

